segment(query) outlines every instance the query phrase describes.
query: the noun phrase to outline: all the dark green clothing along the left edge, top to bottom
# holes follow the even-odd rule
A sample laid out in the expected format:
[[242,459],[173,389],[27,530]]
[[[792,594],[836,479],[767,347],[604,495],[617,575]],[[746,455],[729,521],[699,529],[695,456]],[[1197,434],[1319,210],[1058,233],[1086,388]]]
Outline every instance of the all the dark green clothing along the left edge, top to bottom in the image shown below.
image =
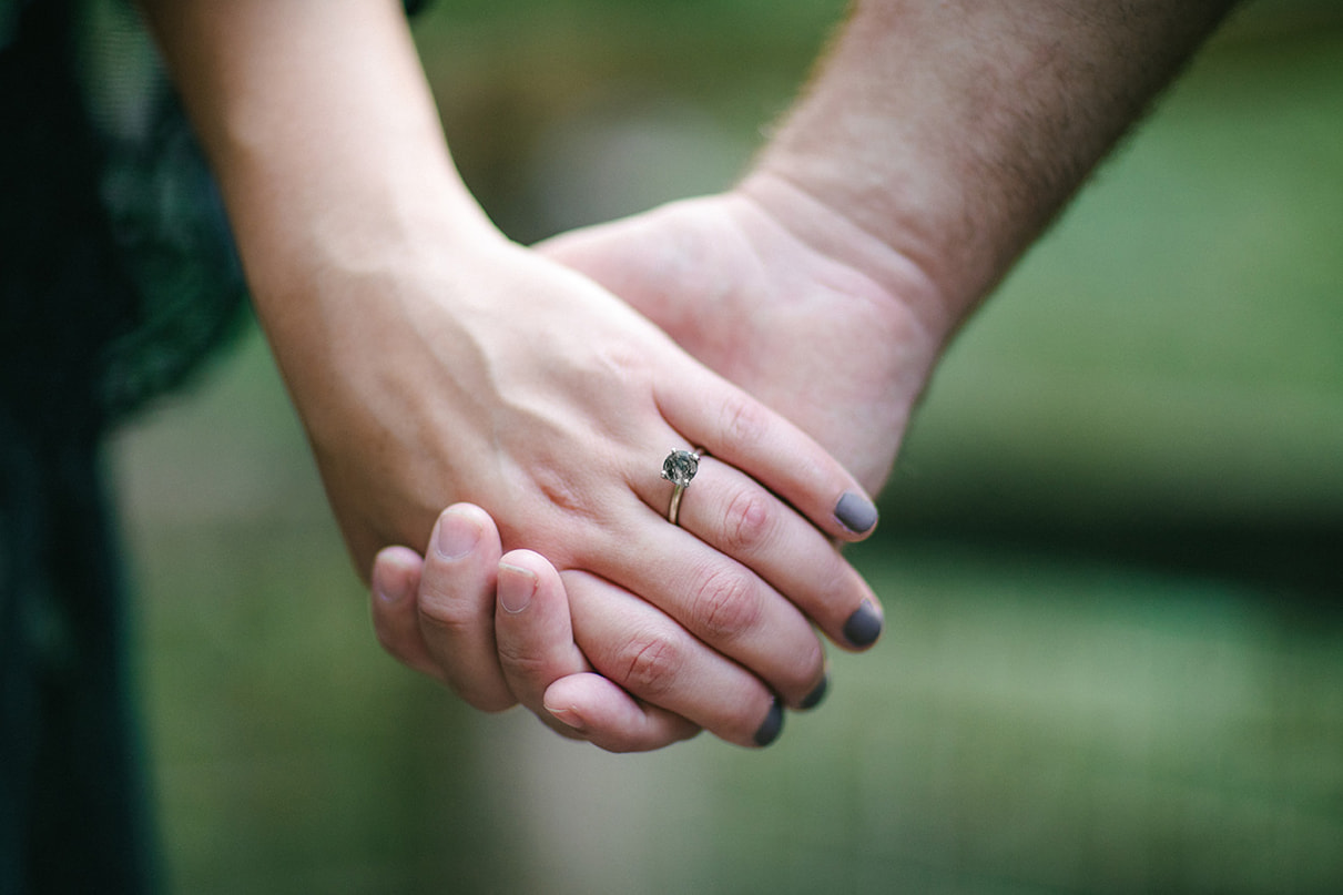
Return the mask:
[[0,0],[0,892],[153,888],[101,443],[238,328],[218,194],[124,0]]

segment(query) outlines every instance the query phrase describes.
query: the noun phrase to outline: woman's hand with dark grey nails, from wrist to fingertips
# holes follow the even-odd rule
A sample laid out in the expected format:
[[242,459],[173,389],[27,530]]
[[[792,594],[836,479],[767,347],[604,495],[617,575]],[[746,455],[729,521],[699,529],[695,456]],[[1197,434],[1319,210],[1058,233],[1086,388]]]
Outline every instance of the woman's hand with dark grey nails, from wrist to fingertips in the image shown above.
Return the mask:
[[[326,301],[357,309],[357,328],[332,320],[357,337],[291,384],[365,568],[422,543],[443,505],[489,508],[505,548],[568,574],[598,672],[741,744],[775,693],[799,706],[823,680],[813,622],[874,640],[876,598],[830,542],[876,523],[861,486],[610,293],[504,241],[332,281],[364,296]],[[673,525],[661,462],[690,446],[708,456]],[[470,618],[431,617],[449,640]],[[438,654],[471,704],[512,701],[474,660]]]

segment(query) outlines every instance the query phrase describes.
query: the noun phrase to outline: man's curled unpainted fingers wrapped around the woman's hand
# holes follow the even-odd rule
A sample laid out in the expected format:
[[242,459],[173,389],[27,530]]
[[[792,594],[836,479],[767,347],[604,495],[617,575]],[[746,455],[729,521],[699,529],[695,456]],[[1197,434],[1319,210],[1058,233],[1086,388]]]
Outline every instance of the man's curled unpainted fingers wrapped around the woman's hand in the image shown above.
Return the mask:
[[[571,605],[575,611],[611,609],[599,601],[583,575],[561,575],[532,551],[504,554],[494,520],[471,504],[443,511],[423,559],[406,547],[388,547],[373,572],[377,640],[415,671],[459,691],[469,685],[516,693],[555,731],[614,753],[646,751],[698,734],[696,724],[594,672],[575,644]],[[615,620],[596,621],[600,634]],[[584,642],[600,649],[592,638]],[[454,680],[459,671],[471,680]],[[757,732],[776,736],[782,720],[782,707],[774,706]]]

